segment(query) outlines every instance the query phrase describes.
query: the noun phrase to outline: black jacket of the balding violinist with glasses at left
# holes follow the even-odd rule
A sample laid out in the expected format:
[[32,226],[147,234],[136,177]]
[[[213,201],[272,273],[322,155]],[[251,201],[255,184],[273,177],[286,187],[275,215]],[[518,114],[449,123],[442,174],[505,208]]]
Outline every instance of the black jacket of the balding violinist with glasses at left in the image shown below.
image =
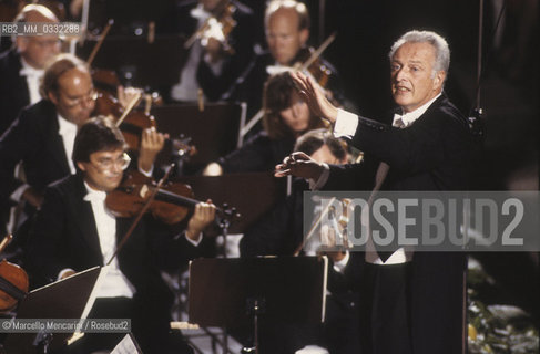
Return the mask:
[[[71,157],[70,157],[71,158]],[[24,164],[27,183],[38,191],[71,174],[59,135],[54,105],[45,100],[23,110],[0,137],[0,196],[8,200],[21,181],[13,177],[19,162]]]

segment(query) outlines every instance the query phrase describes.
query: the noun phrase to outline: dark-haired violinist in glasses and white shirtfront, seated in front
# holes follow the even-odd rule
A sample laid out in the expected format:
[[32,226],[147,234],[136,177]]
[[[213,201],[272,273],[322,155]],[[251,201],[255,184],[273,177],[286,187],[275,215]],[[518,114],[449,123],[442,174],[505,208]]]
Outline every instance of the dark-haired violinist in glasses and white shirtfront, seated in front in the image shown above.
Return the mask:
[[[169,334],[173,296],[159,269],[175,269],[198,256],[202,231],[214,221],[215,207],[210,200],[198,202],[185,229],[184,223],[169,226],[144,215],[120,248],[134,218],[114,217],[105,198],[130,163],[125,150],[122,134],[109,118],[82,124],[73,146],[77,174],[45,189],[29,237],[28,268],[34,279],[51,282],[109,263],[89,317],[131,319],[144,353],[192,353],[180,335]],[[112,350],[120,339],[86,333],[68,353]]]

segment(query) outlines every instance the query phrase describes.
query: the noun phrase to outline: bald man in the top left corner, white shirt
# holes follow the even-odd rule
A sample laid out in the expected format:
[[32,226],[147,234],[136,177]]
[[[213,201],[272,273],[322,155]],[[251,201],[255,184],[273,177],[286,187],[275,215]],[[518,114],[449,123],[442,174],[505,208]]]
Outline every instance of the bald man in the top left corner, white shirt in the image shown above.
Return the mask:
[[[41,4],[28,4],[13,22],[58,22],[57,17]],[[0,134],[24,106],[41,100],[39,81],[45,63],[60,52],[58,37],[17,37],[13,46],[0,54]]]

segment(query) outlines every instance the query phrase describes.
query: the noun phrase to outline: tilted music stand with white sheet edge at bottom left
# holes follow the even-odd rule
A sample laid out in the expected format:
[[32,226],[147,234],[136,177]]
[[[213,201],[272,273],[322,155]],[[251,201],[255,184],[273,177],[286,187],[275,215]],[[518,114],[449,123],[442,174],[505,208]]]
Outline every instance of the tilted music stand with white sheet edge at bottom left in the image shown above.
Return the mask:
[[[17,319],[84,319],[93,305],[95,284],[104,275],[94,267],[72,277],[32,290],[21,301]],[[67,301],[67,299],[69,301]],[[73,333],[10,333],[6,337],[7,353],[35,354],[37,346],[51,351],[60,348]],[[41,337],[41,340],[40,340]],[[43,342],[43,343],[39,343]],[[35,344],[34,344],[35,343]]]

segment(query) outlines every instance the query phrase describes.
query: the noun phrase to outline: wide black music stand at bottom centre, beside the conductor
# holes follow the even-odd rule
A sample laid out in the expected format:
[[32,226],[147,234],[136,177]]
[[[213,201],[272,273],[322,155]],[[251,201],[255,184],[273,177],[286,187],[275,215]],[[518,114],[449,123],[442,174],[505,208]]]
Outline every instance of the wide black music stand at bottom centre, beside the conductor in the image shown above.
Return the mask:
[[[200,326],[322,323],[326,257],[213,258],[190,263],[189,319]],[[211,288],[211,289],[210,289]]]

